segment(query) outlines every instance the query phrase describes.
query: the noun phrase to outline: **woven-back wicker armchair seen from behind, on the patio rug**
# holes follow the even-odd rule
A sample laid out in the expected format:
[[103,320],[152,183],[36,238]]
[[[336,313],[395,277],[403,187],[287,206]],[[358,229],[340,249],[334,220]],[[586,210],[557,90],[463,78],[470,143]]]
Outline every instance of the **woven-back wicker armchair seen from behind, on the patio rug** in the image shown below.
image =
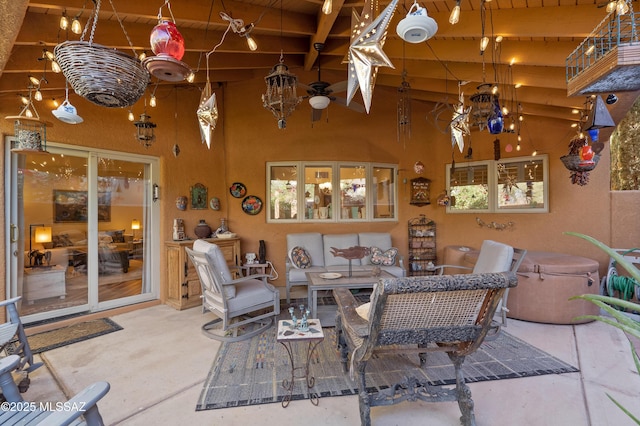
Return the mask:
[[[362,312],[350,291],[334,290],[338,346],[345,371],[350,355],[351,374],[358,375],[362,425],[371,424],[373,406],[416,399],[457,400],[462,424],[475,425],[462,364],[490,330],[505,289],[517,283],[512,272],[381,279],[371,295],[368,312]],[[383,391],[367,390],[365,369],[373,354],[413,353],[424,361],[431,351],[444,351],[451,359],[456,372],[454,388],[405,377]]]

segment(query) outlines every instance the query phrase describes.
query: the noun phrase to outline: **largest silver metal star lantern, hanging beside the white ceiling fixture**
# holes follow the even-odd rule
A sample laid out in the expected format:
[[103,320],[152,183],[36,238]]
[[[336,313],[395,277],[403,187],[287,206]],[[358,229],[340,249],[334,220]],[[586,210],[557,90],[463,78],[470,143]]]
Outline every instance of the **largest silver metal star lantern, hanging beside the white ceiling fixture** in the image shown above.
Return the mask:
[[367,113],[371,108],[371,97],[377,68],[381,66],[394,68],[382,47],[386,41],[387,27],[391,22],[397,4],[398,0],[393,0],[389,3],[382,13],[361,32],[357,32],[355,28],[356,26],[361,27],[364,20],[371,19],[369,14],[371,5],[369,3],[365,4],[363,14],[360,17],[357,17],[355,13],[352,16],[354,33],[352,33],[352,41],[349,46],[347,105],[353,99],[359,86]]

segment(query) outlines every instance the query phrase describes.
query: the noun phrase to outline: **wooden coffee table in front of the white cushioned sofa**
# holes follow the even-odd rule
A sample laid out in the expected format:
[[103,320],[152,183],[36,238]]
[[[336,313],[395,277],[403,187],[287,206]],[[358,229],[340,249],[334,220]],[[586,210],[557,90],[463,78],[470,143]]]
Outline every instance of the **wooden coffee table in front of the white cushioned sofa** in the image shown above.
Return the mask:
[[[380,278],[394,278],[394,276],[386,271],[382,271],[379,277],[371,275],[370,271],[353,272],[351,276],[348,273],[332,273],[332,272],[307,272],[307,300],[311,318],[318,318],[325,327],[335,326],[335,306],[321,306],[318,309],[318,291],[333,290],[334,288],[362,289],[373,288],[373,285]],[[340,277],[333,278],[340,275]],[[329,277],[329,278],[325,278]]]

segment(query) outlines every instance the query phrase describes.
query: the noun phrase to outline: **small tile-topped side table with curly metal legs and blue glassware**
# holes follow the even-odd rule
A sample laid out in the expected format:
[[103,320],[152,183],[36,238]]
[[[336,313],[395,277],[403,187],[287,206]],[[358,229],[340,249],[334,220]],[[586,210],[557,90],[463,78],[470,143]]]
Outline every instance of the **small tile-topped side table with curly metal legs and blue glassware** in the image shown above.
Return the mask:
[[[309,324],[309,331],[300,331],[297,328],[291,328],[291,320],[278,321],[278,335],[276,337],[276,340],[287,350],[289,361],[291,362],[291,376],[288,379],[282,380],[282,387],[289,392],[282,399],[283,408],[287,408],[289,406],[289,402],[291,402],[296,377],[306,379],[307,389],[309,390],[309,401],[311,401],[313,405],[318,405],[318,403],[320,402],[320,396],[316,392],[311,391],[311,389],[315,385],[316,379],[315,377],[310,375],[309,362],[311,361],[313,351],[315,351],[320,342],[324,340],[324,332],[322,331],[320,320],[309,319],[307,320],[307,322]],[[303,366],[295,366],[292,348],[292,344],[294,342],[307,342],[308,344],[307,358],[305,361],[305,365]],[[300,371],[302,371],[303,374],[296,376],[296,372],[300,373]]]

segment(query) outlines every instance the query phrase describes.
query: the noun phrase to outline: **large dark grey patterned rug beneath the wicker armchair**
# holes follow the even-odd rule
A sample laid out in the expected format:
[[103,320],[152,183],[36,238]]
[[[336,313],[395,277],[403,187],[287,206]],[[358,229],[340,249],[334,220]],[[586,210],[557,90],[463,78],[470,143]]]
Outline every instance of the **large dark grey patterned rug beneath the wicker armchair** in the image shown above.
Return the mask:
[[[321,398],[357,395],[356,382],[342,371],[335,349],[335,328],[323,328],[323,331],[324,341],[318,345],[310,366],[315,377],[314,391]],[[294,343],[293,348],[295,365],[304,365],[306,343]],[[445,353],[429,353],[427,359],[428,365],[422,369],[417,356],[377,357],[367,365],[367,383],[384,389],[405,375],[427,379],[433,385],[455,383],[454,368]],[[504,331],[468,356],[463,370],[467,383],[579,371]],[[276,342],[275,326],[248,340],[223,343],[204,383],[196,411],[280,402],[286,393],[282,380],[290,374],[289,357],[284,346]],[[295,382],[292,400],[307,398],[305,379],[296,378]]]

